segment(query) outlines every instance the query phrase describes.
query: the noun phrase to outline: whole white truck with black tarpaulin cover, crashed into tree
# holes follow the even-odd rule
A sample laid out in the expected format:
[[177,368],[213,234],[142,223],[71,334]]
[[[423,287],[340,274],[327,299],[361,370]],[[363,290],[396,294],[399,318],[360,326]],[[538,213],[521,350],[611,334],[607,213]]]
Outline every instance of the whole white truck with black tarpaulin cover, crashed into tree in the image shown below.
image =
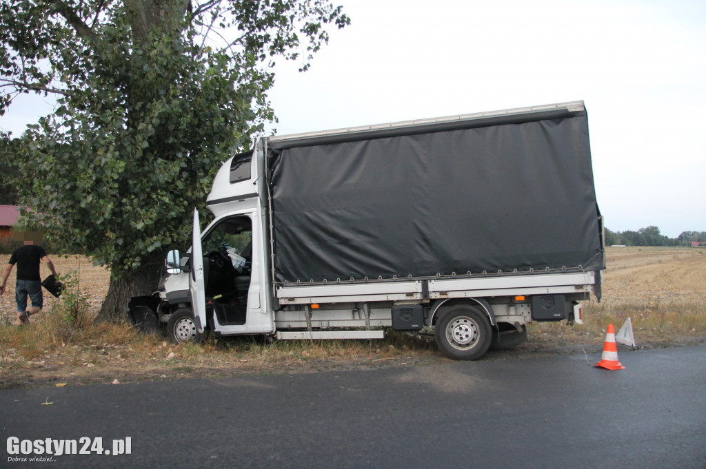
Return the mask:
[[174,341],[433,328],[445,355],[474,360],[600,298],[583,102],[261,138],[207,206],[156,293],[127,303]]

